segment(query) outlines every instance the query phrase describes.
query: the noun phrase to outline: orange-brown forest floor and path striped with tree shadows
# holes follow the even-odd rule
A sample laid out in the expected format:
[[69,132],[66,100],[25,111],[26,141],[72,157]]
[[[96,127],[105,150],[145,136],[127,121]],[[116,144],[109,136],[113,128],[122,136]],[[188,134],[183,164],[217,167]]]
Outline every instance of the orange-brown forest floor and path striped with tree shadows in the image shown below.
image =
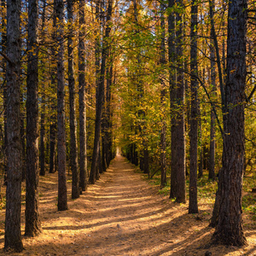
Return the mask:
[[[58,212],[57,174],[40,177],[43,233],[23,237],[22,253],[3,252],[4,211],[0,212],[0,255],[256,255],[255,224],[247,224],[252,220],[245,218],[247,247],[206,248],[214,231],[208,227],[212,205],[200,203],[199,214],[188,214],[188,203],[159,195],[159,188],[121,156],[79,199],[71,199],[70,179],[67,185],[69,210]],[[24,218],[21,228],[23,234]]]

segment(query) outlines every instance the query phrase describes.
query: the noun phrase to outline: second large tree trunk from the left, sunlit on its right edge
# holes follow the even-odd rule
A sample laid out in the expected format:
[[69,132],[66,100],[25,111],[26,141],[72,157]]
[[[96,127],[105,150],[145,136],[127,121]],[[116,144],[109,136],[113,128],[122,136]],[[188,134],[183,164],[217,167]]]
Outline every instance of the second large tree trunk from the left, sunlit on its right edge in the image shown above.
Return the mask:
[[27,45],[25,236],[37,236],[41,232],[38,209],[38,0],[28,1]]

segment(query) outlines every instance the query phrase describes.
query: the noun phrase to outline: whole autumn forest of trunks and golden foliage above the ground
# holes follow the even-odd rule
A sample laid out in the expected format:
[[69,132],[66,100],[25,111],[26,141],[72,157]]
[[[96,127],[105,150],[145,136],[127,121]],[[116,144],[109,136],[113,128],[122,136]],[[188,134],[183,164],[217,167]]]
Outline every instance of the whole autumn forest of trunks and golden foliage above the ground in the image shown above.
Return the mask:
[[244,176],[256,190],[255,2],[1,0],[0,15],[5,249],[23,249],[23,181],[25,236],[38,236],[40,177],[58,172],[65,211],[67,197],[93,186],[117,151],[159,178],[170,200],[189,201],[189,213],[200,211],[198,181],[218,184],[211,244],[247,245],[241,197]]

